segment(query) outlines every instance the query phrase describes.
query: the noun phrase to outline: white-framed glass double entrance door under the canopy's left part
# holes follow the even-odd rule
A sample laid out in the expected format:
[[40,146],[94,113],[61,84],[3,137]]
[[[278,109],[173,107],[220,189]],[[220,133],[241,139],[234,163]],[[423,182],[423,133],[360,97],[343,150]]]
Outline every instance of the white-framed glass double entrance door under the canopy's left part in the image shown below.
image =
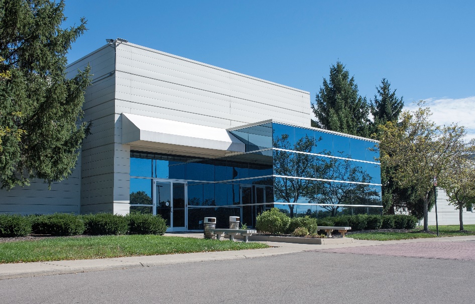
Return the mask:
[[186,231],[186,182],[155,179],[154,196],[154,214],[167,221],[167,231]]

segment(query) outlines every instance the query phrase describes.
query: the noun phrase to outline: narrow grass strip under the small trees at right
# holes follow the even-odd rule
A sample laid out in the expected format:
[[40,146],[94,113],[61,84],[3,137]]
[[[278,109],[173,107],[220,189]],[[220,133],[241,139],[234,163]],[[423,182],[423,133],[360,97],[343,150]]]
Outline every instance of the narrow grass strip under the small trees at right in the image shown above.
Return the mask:
[[[475,225],[463,225],[465,231],[460,231],[458,225],[439,226],[439,236],[460,236],[460,235],[475,235]],[[435,226],[429,226],[430,233],[421,231],[422,227],[417,227],[408,232],[364,232],[359,233],[355,231],[348,235],[354,239],[368,239],[377,241],[411,239],[411,238],[427,238],[437,237],[435,234]]]

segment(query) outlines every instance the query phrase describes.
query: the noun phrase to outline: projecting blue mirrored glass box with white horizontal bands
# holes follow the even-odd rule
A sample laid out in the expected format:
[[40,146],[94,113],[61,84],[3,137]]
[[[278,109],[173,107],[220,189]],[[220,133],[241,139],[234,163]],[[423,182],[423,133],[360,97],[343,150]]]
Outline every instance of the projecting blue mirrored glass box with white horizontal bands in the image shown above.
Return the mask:
[[377,142],[275,122],[231,133],[272,153],[273,202],[289,216],[381,213]]

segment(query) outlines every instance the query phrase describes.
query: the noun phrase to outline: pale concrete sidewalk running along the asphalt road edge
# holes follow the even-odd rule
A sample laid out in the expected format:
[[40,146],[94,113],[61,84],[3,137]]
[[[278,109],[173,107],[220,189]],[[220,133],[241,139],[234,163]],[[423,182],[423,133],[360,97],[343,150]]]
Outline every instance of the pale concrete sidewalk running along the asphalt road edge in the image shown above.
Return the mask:
[[[202,233],[179,233],[165,234],[184,237],[202,237]],[[309,251],[315,249],[332,249],[359,247],[369,245],[382,244],[402,244],[414,242],[448,242],[448,241],[464,241],[475,240],[475,236],[455,236],[442,238],[423,238],[400,241],[369,241],[354,240],[352,243],[332,244],[332,245],[312,245],[312,244],[294,244],[294,243],[276,243],[265,242],[272,246],[266,249],[249,249],[238,251],[219,251],[219,252],[196,252],[182,254],[152,255],[152,256],[133,256],[133,257],[117,257],[104,259],[87,259],[87,260],[67,260],[67,261],[50,261],[50,262],[32,262],[32,263],[9,263],[0,264],[0,279],[29,277],[39,275],[53,275],[64,273],[78,273],[88,271],[100,271],[110,269],[126,269],[136,267],[151,267],[167,264],[180,264],[211,260],[230,260],[244,259],[250,257],[271,256],[279,254],[288,254],[301,251]]]

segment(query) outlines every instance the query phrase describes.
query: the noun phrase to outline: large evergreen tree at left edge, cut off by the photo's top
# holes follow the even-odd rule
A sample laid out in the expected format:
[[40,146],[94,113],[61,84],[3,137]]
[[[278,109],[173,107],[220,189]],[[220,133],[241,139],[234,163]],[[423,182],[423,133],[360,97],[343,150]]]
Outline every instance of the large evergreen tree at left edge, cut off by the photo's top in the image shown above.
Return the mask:
[[2,188],[66,178],[89,132],[81,122],[89,69],[65,74],[67,51],[86,22],[62,29],[63,11],[63,0],[0,0]]

